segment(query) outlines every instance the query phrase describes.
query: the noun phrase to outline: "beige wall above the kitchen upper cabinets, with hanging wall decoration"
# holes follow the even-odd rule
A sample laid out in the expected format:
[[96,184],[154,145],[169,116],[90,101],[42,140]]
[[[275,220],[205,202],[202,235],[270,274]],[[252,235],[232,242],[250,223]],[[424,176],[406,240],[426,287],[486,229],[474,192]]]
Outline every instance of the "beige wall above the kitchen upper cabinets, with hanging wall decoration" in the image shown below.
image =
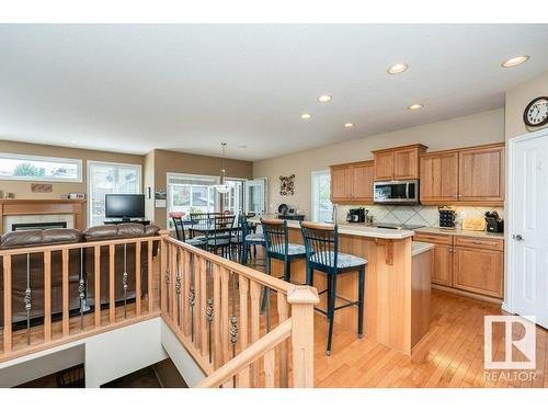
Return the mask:
[[[421,142],[430,151],[504,141],[504,110],[426,124],[393,133],[338,142],[253,163],[253,176],[269,180],[269,210],[281,203],[311,218],[311,171],[330,164],[373,159],[372,150]],[[279,175],[295,174],[295,195],[279,195]]]

